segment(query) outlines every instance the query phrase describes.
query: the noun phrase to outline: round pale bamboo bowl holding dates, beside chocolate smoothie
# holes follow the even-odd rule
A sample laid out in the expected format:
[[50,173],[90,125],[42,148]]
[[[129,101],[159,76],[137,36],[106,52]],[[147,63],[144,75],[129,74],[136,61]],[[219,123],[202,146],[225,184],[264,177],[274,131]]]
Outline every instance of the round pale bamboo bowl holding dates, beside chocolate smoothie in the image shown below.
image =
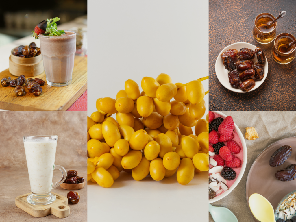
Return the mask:
[[44,71],[42,55],[32,58],[21,58],[12,54],[9,56],[9,73],[15,76],[25,75],[33,77],[40,75]]

